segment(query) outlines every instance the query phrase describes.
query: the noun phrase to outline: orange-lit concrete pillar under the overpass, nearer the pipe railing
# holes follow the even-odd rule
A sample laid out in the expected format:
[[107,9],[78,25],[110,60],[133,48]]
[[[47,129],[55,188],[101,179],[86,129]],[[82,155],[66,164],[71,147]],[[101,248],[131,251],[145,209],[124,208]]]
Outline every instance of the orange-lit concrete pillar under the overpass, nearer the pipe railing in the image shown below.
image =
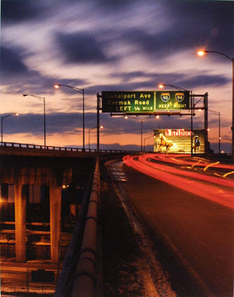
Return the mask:
[[61,232],[61,187],[50,185],[50,254],[52,263],[58,263]]

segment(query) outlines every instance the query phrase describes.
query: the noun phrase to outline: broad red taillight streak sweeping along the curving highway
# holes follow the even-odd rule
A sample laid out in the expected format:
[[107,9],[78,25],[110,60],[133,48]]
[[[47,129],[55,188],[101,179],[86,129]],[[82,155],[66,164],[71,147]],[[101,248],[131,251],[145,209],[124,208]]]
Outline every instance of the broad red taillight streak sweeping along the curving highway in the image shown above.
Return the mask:
[[[186,172],[184,175],[188,176],[190,173],[190,177],[193,177],[194,180],[189,180],[185,177],[178,176],[178,170],[170,166],[164,166],[161,164],[152,164],[151,162],[147,162],[142,156],[139,159],[134,159],[134,157],[126,156],[123,158],[123,161],[127,166],[130,166],[141,173],[145,173],[150,177],[158,179],[160,181],[164,181],[167,184],[171,184],[171,186],[175,186],[177,188],[181,188],[182,190],[186,190],[187,192],[191,192],[200,197],[215,201],[216,203],[220,203],[224,206],[228,206],[229,208],[234,209],[234,201],[233,201],[233,190],[227,190],[224,188],[219,188],[214,185],[215,179],[219,180],[219,177],[210,177],[203,175],[204,179],[202,181],[198,181],[198,173]],[[151,163],[151,164],[150,164]],[[153,166],[152,166],[153,165]],[[183,171],[183,170],[180,170]],[[204,180],[206,182],[204,182]],[[191,181],[193,181],[191,183]],[[209,181],[210,184],[207,183]],[[222,181],[222,185],[226,182],[225,179],[220,179]],[[191,185],[193,184],[193,186]],[[219,183],[215,183],[219,184]],[[234,184],[231,181],[228,181],[228,186],[234,188]]]

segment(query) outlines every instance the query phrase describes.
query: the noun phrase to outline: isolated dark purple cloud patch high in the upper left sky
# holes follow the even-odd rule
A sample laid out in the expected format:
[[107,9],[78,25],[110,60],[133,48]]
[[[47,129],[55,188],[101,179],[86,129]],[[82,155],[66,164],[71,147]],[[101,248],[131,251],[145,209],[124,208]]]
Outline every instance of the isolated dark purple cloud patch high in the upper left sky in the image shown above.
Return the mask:
[[116,57],[109,58],[95,36],[87,32],[58,33],[56,42],[61,47],[68,63],[109,63]]

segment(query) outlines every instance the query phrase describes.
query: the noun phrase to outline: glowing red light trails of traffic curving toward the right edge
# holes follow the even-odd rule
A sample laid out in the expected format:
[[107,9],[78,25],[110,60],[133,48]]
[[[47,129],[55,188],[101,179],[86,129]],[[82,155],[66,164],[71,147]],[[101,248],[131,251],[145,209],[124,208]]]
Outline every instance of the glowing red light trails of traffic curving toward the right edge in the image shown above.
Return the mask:
[[[194,173],[188,170],[174,168],[173,166],[149,162],[148,159],[156,159],[158,155],[141,155],[139,156],[126,156],[123,161],[127,166],[130,166],[141,173],[145,173],[150,177],[164,181],[187,192],[192,192],[200,197],[221,203],[224,206],[234,209],[234,182],[228,179],[205,175],[202,173]],[[175,156],[172,156],[175,157]],[[160,156],[159,159],[164,159],[168,162],[169,157]],[[195,159],[197,162],[198,159]],[[169,163],[176,162],[176,160],[169,159]],[[184,160],[183,160],[184,162]],[[184,162],[184,164],[195,164],[195,162]],[[178,164],[178,163],[177,163]],[[204,164],[204,166],[207,166]],[[220,164],[217,164],[220,165]],[[217,166],[215,165],[215,166]],[[234,169],[234,166],[221,164],[221,168]]]

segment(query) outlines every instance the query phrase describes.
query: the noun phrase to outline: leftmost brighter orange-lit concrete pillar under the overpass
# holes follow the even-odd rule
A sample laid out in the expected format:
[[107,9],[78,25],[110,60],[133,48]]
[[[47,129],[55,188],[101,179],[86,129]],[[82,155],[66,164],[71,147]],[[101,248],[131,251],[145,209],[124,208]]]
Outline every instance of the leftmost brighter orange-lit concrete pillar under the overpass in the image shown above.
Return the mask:
[[26,261],[26,190],[21,180],[14,184],[16,261]]

